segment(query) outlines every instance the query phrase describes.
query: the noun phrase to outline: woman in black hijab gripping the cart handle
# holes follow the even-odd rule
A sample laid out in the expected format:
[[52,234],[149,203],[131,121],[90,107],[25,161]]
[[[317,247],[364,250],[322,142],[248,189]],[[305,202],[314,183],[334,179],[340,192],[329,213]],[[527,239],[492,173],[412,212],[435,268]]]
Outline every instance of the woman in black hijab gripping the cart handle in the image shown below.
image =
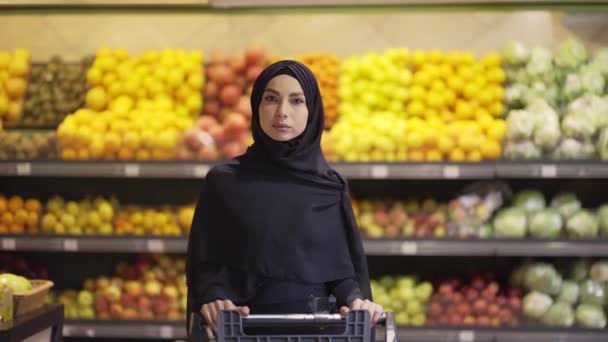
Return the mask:
[[378,321],[347,184],[321,152],[323,103],[312,72],[268,66],[251,95],[254,143],[207,175],[188,241],[190,312],[306,313],[309,296]]

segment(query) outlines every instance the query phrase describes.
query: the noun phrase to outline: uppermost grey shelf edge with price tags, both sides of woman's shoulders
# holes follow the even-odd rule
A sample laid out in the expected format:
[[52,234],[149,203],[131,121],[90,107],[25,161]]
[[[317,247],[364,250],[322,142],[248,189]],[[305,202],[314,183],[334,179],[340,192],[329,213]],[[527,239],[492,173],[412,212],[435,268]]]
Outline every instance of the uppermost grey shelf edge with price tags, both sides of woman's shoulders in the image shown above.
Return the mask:
[[[204,178],[219,162],[0,161],[0,176]],[[608,162],[332,163],[349,179],[608,178]]]

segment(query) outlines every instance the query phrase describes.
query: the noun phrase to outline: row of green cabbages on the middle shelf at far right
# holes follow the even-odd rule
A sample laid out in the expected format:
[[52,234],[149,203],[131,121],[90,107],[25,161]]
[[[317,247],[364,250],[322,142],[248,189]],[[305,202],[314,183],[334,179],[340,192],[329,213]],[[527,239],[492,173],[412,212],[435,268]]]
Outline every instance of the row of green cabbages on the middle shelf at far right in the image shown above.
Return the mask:
[[513,206],[494,217],[494,235],[504,238],[593,239],[608,236],[608,206],[582,207],[573,193],[562,192],[550,202],[537,190],[523,190]]

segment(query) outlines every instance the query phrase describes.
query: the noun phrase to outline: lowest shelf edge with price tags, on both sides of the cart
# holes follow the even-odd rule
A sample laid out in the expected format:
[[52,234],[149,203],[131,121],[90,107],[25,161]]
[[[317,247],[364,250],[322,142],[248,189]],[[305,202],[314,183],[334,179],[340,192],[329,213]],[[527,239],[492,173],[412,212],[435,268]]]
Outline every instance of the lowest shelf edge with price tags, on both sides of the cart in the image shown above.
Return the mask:
[[[185,322],[174,321],[66,321],[63,336],[183,339],[186,337],[185,326]],[[377,335],[381,337],[382,332]],[[578,328],[399,327],[397,338],[417,342],[595,342],[608,340],[608,331]]]

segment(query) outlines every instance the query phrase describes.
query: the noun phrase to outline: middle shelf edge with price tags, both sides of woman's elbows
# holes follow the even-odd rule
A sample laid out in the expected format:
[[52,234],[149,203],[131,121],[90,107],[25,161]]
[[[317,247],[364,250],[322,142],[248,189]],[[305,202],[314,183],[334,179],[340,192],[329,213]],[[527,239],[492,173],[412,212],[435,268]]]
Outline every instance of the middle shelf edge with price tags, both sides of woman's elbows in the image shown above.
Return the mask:
[[[367,255],[608,256],[608,240],[364,239]],[[2,251],[185,253],[186,237],[2,235]]]

